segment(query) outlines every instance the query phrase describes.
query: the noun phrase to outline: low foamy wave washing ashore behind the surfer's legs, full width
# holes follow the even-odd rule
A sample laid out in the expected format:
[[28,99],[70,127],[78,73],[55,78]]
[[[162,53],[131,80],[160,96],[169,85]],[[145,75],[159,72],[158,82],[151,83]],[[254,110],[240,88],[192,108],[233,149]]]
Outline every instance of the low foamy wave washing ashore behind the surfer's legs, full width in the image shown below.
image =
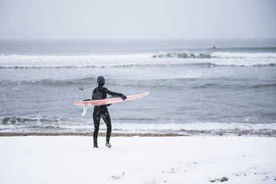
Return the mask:
[[[44,121],[43,121],[44,119]],[[0,132],[75,132],[87,133],[93,131],[92,122],[79,121],[61,122],[57,117],[6,117],[0,118]],[[15,123],[14,123],[15,121]],[[141,120],[137,120],[141,121]],[[149,120],[147,120],[148,122]],[[65,122],[65,123],[64,123]],[[276,136],[276,123],[221,123],[221,122],[194,122],[194,123],[112,123],[114,133],[124,134],[185,134],[185,135],[218,135],[218,136]],[[101,126],[99,132],[106,132]]]

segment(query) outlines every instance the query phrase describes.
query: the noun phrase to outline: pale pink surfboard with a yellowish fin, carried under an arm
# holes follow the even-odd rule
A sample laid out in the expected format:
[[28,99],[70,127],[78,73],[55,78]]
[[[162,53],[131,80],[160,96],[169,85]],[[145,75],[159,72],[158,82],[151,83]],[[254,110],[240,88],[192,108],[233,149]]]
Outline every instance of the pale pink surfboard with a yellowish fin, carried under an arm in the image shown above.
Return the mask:
[[[150,92],[146,92],[143,94],[136,94],[136,95],[132,95],[132,96],[126,96],[125,101],[139,99],[141,97],[147,96],[148,94],[150,94]],[[120,102],[123,102],[123,99],[112,98],[112,99],[103,99],[103,100],[97,100],[97,101],[78,101],[78,102],[75,102],[74,105],[83,106],[83,112],[82,112],[81,116],[85,116],[86,112],[88,110],[88,106],[108,105],[108,104],[120,103]]]

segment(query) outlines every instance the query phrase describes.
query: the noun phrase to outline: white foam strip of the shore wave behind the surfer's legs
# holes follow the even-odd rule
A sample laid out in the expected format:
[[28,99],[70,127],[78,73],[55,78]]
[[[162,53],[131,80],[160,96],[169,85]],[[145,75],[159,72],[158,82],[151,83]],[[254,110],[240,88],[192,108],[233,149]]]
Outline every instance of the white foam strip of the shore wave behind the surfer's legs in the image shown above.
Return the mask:
[[[93,125],[60,125],[60,127],[74,130],[92,129]],[[276,123],[112,123],[112,132],[115,133],[166,133],[184,131],[222,132],[226,130],[276,130]],[[100,132],[105,132],[106,126],[100,126]],[[234,132],[235,132],[234,131]]]

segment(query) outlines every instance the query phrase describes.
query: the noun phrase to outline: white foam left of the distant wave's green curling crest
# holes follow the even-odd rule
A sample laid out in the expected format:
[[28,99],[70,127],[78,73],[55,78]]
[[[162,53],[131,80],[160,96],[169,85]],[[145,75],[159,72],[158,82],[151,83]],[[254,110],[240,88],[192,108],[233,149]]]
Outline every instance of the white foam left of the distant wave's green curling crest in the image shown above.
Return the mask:
[[114,66],[141,64],[141,60],[150,58],[147,54],[113,55],[0,55],[1,67],[63,67],[63,66]]

